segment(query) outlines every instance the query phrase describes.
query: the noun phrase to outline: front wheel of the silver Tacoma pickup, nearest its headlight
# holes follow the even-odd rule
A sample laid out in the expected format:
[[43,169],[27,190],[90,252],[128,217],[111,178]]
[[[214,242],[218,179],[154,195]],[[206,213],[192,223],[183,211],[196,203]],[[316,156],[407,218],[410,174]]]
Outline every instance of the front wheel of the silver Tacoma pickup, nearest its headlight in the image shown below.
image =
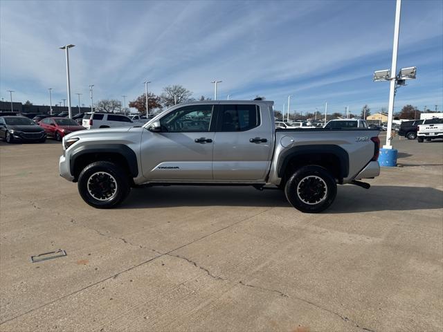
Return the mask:
[[78,177],[80,196],[94,208],[114,208],[123,202],[130,190],[123,169],[109,161],[97,161],[87,165]]

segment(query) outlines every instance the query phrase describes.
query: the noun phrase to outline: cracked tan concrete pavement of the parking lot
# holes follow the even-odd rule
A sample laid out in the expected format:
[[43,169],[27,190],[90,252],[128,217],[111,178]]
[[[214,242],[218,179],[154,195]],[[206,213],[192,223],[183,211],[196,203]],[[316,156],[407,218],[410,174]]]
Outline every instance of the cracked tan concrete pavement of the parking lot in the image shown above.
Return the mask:
[[443,145],[393,145],[402,167],[302,214],[252,187],[96,210],[60,142],[0,142],[0,331],[442,331]]

